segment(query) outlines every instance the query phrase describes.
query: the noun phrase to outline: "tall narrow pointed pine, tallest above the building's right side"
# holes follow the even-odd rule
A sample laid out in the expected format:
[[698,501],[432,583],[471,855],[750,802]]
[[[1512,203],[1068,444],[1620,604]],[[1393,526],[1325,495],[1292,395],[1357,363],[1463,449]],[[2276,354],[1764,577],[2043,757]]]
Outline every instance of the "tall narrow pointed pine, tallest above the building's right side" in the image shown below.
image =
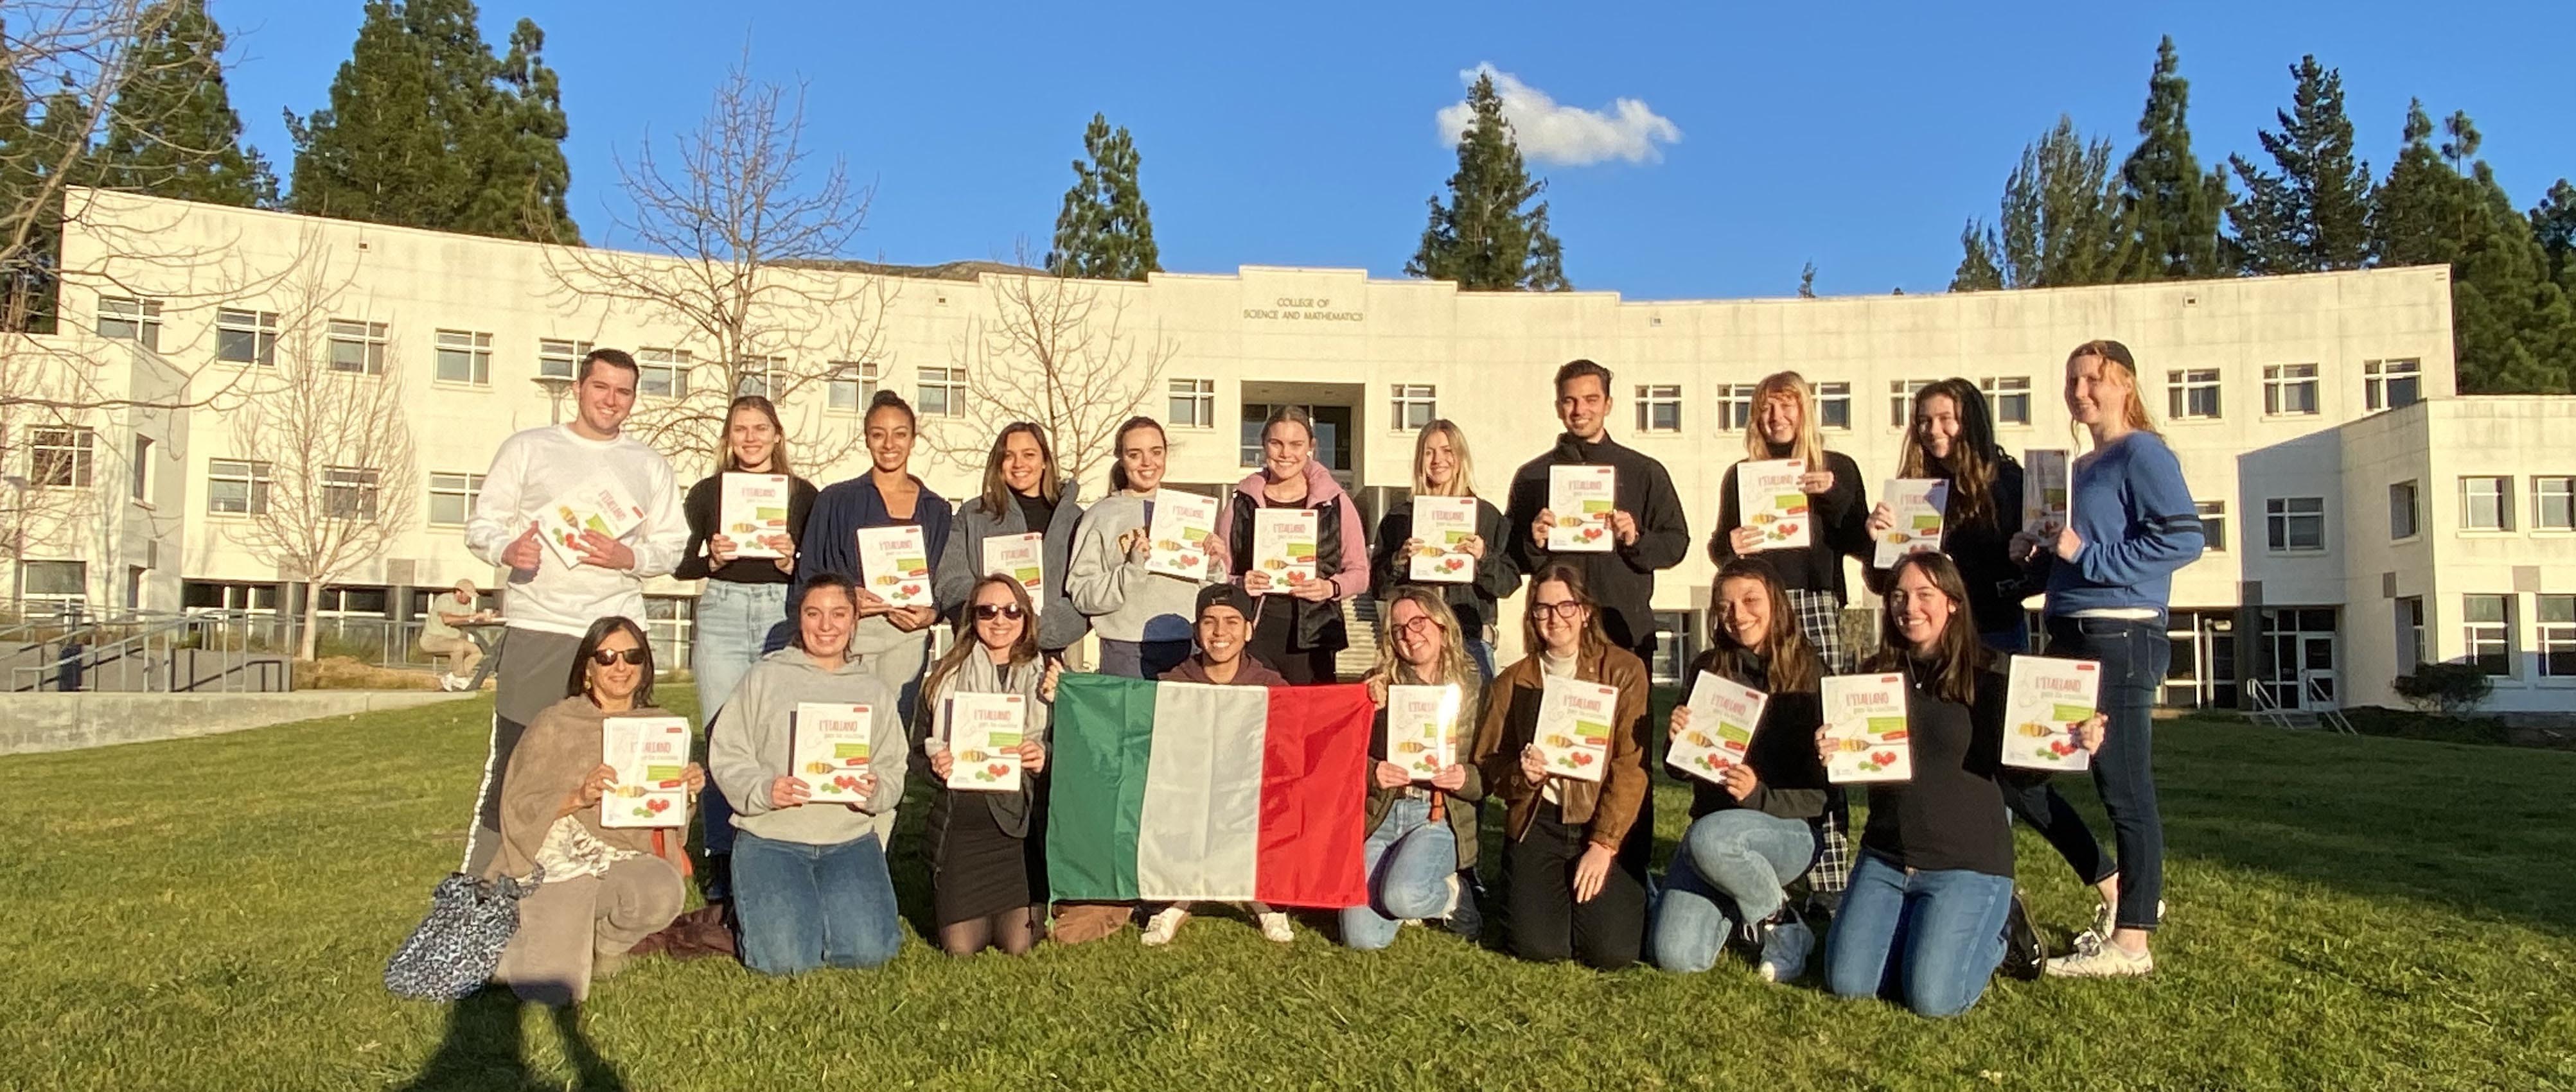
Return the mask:
[[2223,167],[2200,173],[2192,155],[2190,80],[2179,75],[2174,39],[2156,44],[2156,70],[2146,80],[2138,147],[2120,165],[2120,221],[2128,255],[2120,281],[2187,281],[2226,273],[2218,219],[2228,203]]

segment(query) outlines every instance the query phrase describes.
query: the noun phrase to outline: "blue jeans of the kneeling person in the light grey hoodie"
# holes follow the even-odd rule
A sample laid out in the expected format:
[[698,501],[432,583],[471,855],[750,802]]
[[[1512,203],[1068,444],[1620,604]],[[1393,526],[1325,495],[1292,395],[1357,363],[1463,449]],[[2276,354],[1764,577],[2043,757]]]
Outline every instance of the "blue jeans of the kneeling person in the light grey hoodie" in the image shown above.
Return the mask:
[[878,966],[904,945],[876,834],[804,845],[744,832],[734,840],[734,914],[742,966],[760,974]]

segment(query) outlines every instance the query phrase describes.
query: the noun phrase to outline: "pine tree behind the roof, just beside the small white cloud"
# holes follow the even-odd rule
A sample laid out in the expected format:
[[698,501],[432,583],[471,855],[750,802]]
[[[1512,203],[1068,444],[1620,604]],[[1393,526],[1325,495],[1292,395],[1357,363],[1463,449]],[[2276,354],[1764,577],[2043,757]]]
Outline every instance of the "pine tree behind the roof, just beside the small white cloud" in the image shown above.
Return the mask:
[[1466,291],[1571,288],[1564,247],[1548,232],[1548,203],[1538,201],[1548,183],[1530,178],[1522,165],[1494,77],[1479,75],[1466,103],[1473,121],[1458,136],[1450,201],[1443,206],[1437,193],[1430,198],[1422,247],[1404,263],[1404,273],[1455,281]]

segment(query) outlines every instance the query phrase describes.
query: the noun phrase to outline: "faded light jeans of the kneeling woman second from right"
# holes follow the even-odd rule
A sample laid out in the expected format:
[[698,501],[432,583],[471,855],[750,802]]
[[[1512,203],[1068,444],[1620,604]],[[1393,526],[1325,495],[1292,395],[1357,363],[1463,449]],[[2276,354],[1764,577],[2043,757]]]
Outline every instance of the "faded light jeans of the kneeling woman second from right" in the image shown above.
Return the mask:
[[1710,811],[1682,832],[1664,873],[1664,899],[1646,953],[1664,971],[1698,974],[1718,963],[1726,935],[1780,912],[1793,883],[1816,863],[1821,840],[1806,819],[1754,809]]

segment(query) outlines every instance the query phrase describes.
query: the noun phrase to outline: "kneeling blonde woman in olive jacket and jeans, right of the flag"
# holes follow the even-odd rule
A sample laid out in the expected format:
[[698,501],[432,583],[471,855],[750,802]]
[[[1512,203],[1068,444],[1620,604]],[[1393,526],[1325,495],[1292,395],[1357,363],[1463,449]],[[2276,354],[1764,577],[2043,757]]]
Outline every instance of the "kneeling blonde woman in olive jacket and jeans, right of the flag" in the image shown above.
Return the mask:
[[1399,925],[1425,917],[1448,917],[1453,930],[1473,937],[1481,917],[1458,876],[1476,868],[1476,801],[1484,801],[1484,775],[1466,762],[1466,755],[1435,770],[1427,783],[1414,783],[1404,765],[1388,762],[1394,747],[1386,739],[1386,688],[1455,688],[1455,724],[1473,731],[1484,711],[1484,680],[1468,659],[1468,636],[1458,631],[1458,616],[1437,590],[1427,585],[1396,590],[1383,618],[1378,670],[1368,677],[1368,695],[1378,703],[1368,842],[1360,850],[1368,904],[1342,909],[1342,943],[1386,948],[1396,940]]

